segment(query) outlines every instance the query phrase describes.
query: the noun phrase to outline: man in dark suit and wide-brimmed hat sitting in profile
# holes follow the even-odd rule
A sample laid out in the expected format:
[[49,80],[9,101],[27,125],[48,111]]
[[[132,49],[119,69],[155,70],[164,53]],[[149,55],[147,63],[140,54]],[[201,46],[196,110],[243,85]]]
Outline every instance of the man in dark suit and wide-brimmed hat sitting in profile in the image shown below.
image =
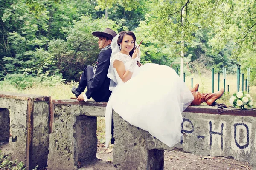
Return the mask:
[[[87,101],[91,97],[96,102],[108,102],[111,91],[109,91],[110,79],[107,77],[110,63],[111,41],[117,34],[115,31],[106,28],[103,32],[93,32],[98,37],[99,52],[98,60],[94,67],[88,65],[84,68],[79,85],[72,87],[72,93],[75,94],[78,101]],[[85,94],[81,94],[85,88]]]

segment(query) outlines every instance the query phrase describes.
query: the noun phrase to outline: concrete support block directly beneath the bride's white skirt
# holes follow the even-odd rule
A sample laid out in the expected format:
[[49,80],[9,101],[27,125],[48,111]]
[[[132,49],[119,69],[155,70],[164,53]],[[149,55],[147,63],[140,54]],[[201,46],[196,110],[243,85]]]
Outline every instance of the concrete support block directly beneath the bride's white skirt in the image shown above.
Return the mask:
[[115,145],[113,164],[120,170],[163,170],[164,150],[148,150],[148,132],[130,125],[113,112]]

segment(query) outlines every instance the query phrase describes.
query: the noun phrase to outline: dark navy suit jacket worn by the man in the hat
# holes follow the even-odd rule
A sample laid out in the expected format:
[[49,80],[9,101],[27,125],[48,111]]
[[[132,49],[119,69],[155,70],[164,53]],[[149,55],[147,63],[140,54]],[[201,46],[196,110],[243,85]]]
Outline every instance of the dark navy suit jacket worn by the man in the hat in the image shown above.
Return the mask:
[[111,92],[109,90],[110,79],[107,77],[110,64],[111,48],[101,51],[96,65],[93,68],[94,76],[91,85],[87,86],[85,95],[88,99],[91,97],[97,101],[108,101]]

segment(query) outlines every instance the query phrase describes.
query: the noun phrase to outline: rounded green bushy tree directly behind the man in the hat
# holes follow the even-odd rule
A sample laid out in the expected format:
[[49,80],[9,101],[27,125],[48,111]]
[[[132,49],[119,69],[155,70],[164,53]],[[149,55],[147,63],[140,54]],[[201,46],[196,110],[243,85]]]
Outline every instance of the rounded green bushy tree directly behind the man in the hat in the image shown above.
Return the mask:
[[84,65],[92,65],[99,54],[97,38],[92,35],[94,31],[103,31],[118,28],[112,20],[92,19],[82,16],[81,20],[73,21],[73,26],[62,28],[67,34],[67,40],[52,40],[49,42],[49,53],[55,57],[57,68],[66,80],[79,80]]

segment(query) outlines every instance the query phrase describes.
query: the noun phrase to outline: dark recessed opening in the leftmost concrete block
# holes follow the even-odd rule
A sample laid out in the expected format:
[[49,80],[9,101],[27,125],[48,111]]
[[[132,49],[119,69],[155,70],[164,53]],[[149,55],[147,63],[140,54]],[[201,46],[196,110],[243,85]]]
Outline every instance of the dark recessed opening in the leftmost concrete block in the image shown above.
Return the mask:
[[0,108],[0,142],[9,141],[10,137],[10,113],[8,109]]

